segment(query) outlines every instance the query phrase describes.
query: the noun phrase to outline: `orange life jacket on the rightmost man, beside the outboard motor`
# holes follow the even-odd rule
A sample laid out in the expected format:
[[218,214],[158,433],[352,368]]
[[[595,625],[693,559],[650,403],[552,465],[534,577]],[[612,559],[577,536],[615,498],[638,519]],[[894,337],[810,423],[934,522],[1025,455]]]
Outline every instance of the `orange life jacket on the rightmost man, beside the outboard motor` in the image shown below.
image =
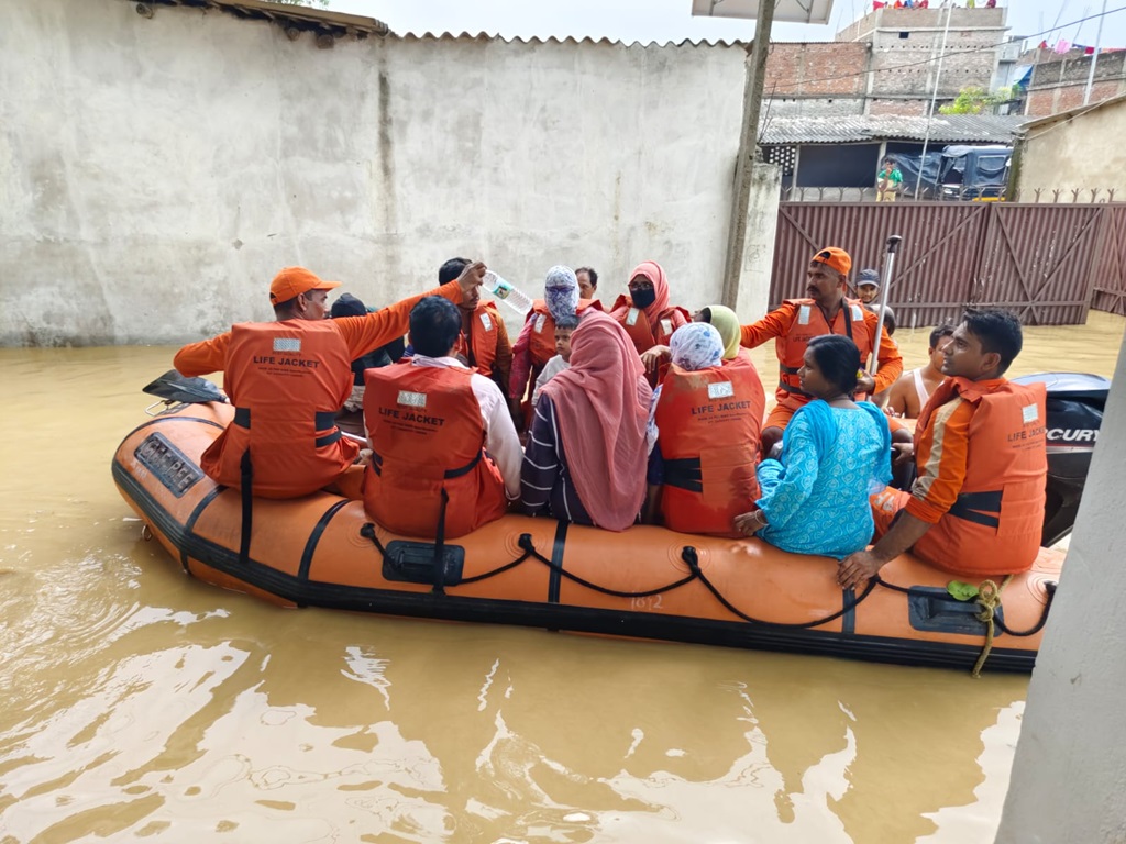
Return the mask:
[[974,386],[965,378],[948,378],[919,417],[917,447],[931,414],[955,395],[976,405],[962,492],[915,542],[914,553],[958,574],[1025,572],[1039,551],[1044,523],[1047,393],[1043,384],[1003,381],[992,392]]

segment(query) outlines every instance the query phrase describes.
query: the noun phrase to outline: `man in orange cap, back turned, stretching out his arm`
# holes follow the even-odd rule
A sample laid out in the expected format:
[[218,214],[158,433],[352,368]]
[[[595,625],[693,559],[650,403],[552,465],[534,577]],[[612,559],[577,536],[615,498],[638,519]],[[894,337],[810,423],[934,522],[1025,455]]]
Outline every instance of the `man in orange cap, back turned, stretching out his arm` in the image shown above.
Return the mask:
[[[484,264],[430,294],[453,302],[475,291]],[[337,481],[359,447],[342,438],[336,414],[351,394],[351,361],[402,336],[413,296],[365,316],[329,320],[329,290],[303,267],[287,267],[270,284],[275,322],[240,323],[211,340],[190,343],[173,358],[181,375],[223,371],[234,421],[199,460],[218,484],[253,495],[295,499]],[[251,459],[252,458],[252,459]]]

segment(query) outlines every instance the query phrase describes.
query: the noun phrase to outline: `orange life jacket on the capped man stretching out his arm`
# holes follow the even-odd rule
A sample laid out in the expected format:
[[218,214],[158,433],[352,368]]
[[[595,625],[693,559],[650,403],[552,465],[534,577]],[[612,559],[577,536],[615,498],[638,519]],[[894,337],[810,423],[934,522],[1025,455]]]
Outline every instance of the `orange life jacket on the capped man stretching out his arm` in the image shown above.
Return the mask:
[[235,325],[223,375],[234,421],[200,467],[240,490],[249,449],[253,495],[296,499],[331,484],[359,454],[336,423],[351,386],[348,344],[331,321]]

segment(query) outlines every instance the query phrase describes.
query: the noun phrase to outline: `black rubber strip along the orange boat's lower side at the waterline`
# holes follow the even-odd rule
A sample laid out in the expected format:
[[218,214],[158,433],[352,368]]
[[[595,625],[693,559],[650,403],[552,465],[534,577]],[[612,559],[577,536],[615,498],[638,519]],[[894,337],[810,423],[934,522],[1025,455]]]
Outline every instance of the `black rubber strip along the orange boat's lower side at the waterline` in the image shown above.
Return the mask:
[[[972,637],[965,645],[958,645],[557,603],[420,594],[318,581],[302,582],[296,576],[278,572],[254,559],[248,559],[240,567],[235,551],[186,530],[124,466],[115,460],[113,468],[114,478],[122,491],[190,558],[293,603],[413,618],[521,625],[920,666],[969,668],[981,653],[981,640],[977,637]],[[1029,672],[1035,659],[1036,654],[1031,650],[994,647],[986,666],[992,671]]]

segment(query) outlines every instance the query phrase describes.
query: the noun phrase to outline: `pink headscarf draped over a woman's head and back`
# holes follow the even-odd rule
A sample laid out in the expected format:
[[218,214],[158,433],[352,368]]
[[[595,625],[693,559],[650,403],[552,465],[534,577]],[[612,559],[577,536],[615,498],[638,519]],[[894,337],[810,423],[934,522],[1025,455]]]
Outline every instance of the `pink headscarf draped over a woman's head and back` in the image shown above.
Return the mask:
[[571,335],[571,368],[544,385],[579,500],[595,524],[625,530],[645,497],[652,390],[625,330],[588,311]]

